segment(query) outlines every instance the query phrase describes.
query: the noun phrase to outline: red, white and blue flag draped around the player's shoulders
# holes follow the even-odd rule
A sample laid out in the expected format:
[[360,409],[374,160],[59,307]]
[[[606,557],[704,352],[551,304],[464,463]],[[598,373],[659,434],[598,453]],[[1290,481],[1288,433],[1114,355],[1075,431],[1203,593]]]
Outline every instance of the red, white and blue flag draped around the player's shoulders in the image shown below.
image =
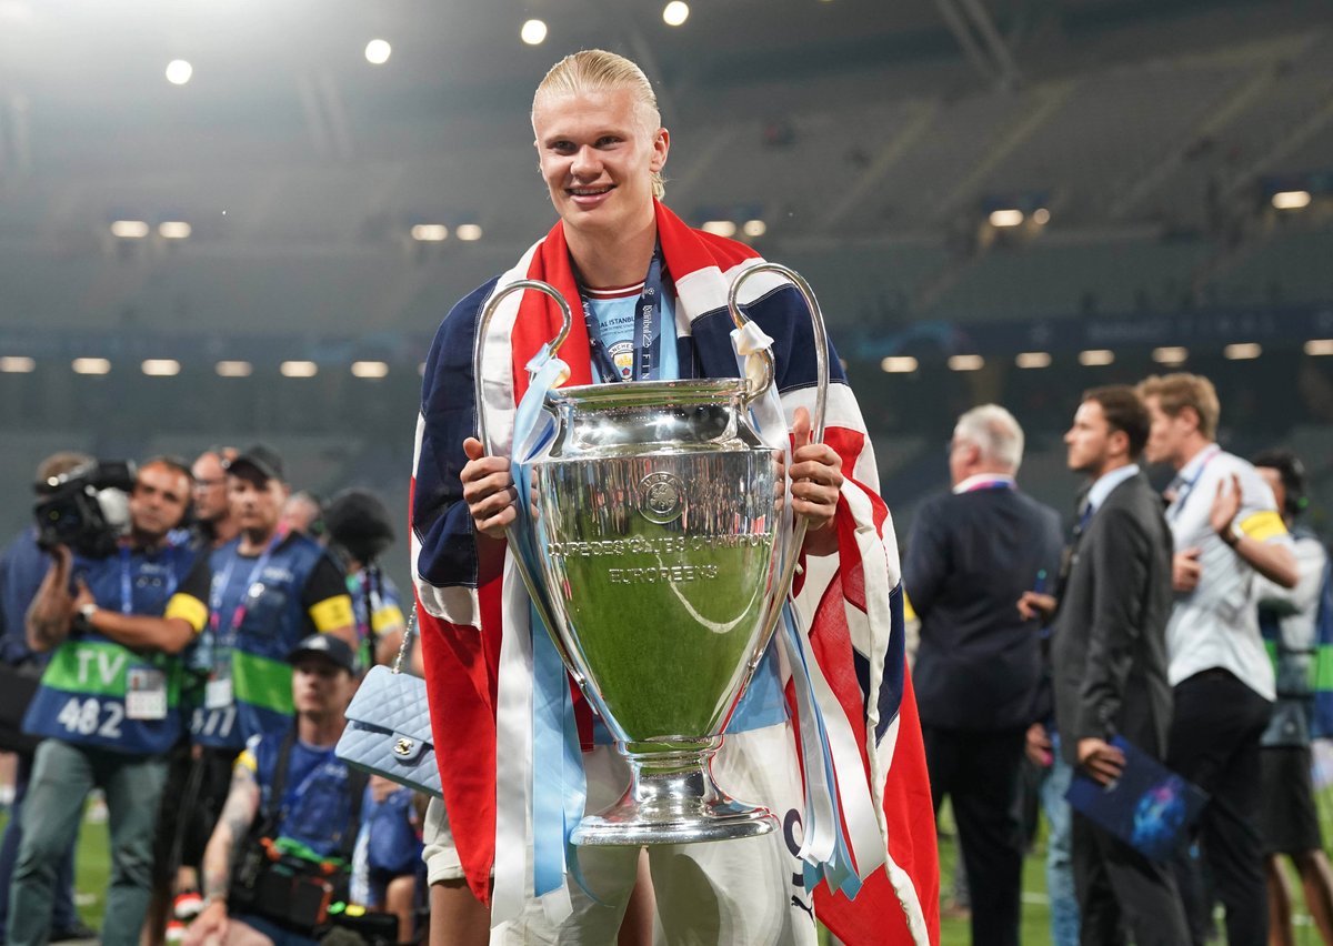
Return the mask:
[[[661,204],[656,213],[674,284],[681,374],[734,377],[726,293],[736,273],[758,257],[742,244],[690,229]],[[497,286],[520,278],[544,280],[565,298],[579,298],[563,224],[441,324],[427,361],[412,482],[413,578],[444,801],[468,883],[488,902],[493,873],[497,899],[513,883],[505,863],[512,854],[504,853],[512,835],[500,845],[501,863],[496,861],[497,826],[501,834],[513,830],[508,798],[531,791],[532,743],[515,734],[501,706],[504,688],[519,674],[504,674],[501,686],[501,653],[513,653],[516,629],[531,630],[512,557],[507,554],[503,570],[479,557],[459,477],[467,462],[463,441],[477,429],[473,341],[480,313]],[[756,277],[745,289],[740,301],[746,314],[773,338],[774,386],[788,422],[798,406],[813,413],[813,328],[804,302],[777,278]],[[512,293],[492,318],[483,345],[484,409],[497,453],[508,454],[512,444],[529,360],[560,324],[555,302],[532,292]],[[569,384],[592,382],[588,352],[587,326],[575,318],[561,349]],[[802,854],[813,865],[806,877],[812,886],[824,879],[838,887],[818,883],[816,914],[844,942],[937,943],[934,817],[904,656],[897,546],[876,492],[865,424],[833,354],[830,370],[825,442],[842,457],[845,477],[836,516],[837,569],[808,626],[786,621],[782,662],[806,782],[805,823],[808,834],[818,835],[806,837]],[[774,636],[774,646],[781,637]],[[504,660],[512,666],[511,657]],[[591,710],[579,694],[575,700],[587,749]],[[529,779],[517,789],[509,778],[516,765]],[[505,769],[499,779],[497,767]],[[812,831],[814,823],[821,827]]]

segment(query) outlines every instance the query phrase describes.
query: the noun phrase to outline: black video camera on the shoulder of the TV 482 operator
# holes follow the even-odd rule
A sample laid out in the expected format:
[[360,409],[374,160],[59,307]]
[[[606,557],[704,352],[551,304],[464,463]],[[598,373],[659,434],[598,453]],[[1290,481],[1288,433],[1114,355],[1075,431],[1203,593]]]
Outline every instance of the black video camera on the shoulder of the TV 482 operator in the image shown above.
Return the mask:
[[36,484],[37,546],[68,545],[88,558],[105,558],[129,532],[135,464],[95,461]]

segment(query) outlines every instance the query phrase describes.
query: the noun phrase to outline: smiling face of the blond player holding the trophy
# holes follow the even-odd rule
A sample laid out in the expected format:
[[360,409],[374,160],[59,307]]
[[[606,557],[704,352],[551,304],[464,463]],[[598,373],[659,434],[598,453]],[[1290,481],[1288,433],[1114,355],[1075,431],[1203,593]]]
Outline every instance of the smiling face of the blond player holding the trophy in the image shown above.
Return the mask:
[[629,88],[537,101],[532,125],[541,176],[567,236],[628,235],[652,224],[652,176],[669,148],[653,117]]

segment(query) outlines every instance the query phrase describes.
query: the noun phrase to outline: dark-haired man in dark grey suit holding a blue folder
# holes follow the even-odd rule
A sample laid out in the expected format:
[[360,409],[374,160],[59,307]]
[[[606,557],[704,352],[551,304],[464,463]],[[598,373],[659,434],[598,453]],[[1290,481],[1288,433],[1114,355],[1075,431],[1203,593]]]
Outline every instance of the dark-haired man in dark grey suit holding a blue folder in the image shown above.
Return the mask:
[[[1098,782],[1114,779],[1124,754],[1114,735],[1166,755],[1172,690],[1166,621],[1172,610],[1172,533],[1136,461],[1148,442],[1148,410],[1124,385],[1084,394],[1065,434],[1069,469],[1092,484],[1080,504],[1057,598],[1025,594],[1020,609],[1049,614],[1052,682],[1061,747]],[[1073,813],[1074,887],[1084,946],[1189,941],[1168,863]]]

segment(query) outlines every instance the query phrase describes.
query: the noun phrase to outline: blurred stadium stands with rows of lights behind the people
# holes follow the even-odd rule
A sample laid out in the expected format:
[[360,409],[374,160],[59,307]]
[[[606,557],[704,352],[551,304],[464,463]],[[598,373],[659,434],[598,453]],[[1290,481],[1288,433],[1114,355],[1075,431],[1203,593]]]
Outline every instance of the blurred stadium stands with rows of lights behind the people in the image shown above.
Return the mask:
[[1326,518],[1325,0],[664,5],[0,0],[0,525],[57,448],[255,440],[405,521],[419,365],[553,221],[527,113],[591,45],[657,81],[668,204],[814,285],[900,533],[962,409],[1066,508],[1078,393],[1174,365]]

